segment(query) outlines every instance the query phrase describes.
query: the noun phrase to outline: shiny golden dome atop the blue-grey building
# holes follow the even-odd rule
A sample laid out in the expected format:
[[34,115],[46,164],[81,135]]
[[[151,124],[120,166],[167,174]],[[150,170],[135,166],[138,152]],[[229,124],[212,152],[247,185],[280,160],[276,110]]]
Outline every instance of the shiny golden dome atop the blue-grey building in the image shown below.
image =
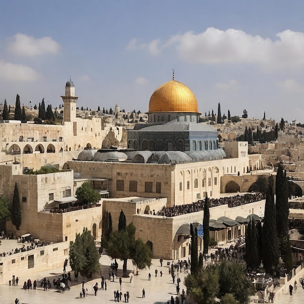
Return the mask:
[[198,113],[197,100],[192,91],[178,81],[171,80],[158,87],[149,102],[149,112]]

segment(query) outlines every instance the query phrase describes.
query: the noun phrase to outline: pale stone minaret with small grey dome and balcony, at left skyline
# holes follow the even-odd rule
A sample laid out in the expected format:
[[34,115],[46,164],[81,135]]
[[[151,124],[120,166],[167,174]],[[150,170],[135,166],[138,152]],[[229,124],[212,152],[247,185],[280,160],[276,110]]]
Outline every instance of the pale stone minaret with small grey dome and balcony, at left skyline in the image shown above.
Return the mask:
[[64,122],[71,122],[75,121],[76,119],[76,102],[78,96],[75,96],[75,85],[74,83],[69,80],[66,83],[66,95],[61,96],[64,104],[63,108],[63,121]]

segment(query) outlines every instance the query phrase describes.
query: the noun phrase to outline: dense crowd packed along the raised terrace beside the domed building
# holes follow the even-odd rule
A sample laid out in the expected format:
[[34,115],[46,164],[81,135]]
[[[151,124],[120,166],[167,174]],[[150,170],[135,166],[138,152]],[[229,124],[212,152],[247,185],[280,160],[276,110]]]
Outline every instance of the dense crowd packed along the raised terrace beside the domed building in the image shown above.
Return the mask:
[[[237,194],[235,196],[222,197],[219,199],[211,198],[209,199],[209,208],[221,206],[224,204],[228,204],[228,207],[232,208],[247,203],[258,202],[264,199],[266,199],[266,196],[263,193]],[[156,213],[156,215],[166,216],[166,217],[176,217],[187,213],[203,211],[203,209],[204,209],[204,201],[198,200],[197,202],[190,204],[174,205],[172,207],[163,207],[160,211]]]

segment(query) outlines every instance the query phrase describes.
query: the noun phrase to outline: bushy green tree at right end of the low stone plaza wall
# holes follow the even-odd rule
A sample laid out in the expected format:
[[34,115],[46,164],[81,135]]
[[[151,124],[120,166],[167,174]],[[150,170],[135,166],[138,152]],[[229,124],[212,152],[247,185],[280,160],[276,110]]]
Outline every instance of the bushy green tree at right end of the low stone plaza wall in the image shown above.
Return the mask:
[[72,270],[80,271],[83,276],[91,278],[94,272],[100,271],[100,255],[94,237],[87,228],[82,234],[76,235],[75,242],[70,242],[69,258]]

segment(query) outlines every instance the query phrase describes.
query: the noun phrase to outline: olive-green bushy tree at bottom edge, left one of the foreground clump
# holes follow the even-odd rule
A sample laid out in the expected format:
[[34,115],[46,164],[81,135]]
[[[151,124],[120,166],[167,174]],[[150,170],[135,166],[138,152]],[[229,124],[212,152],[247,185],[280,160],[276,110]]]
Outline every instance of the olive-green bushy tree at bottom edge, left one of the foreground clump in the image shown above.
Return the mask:
[[214,304],[219,290],[219,271],[208,265],[196,274],[188,274],[184,283],[191,298],[197,304]]

